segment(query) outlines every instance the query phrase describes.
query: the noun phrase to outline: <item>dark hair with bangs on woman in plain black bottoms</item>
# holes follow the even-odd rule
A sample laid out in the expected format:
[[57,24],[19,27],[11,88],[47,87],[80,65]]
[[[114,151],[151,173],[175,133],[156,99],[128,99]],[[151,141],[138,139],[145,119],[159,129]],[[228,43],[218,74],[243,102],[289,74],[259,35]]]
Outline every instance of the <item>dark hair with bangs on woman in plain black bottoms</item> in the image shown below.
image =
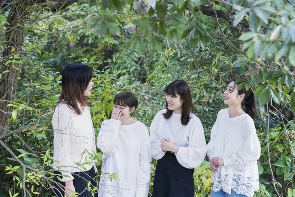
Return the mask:
[[[179,95],[182,102],[182,112],[181,112],[181,124],[187,125],[190,120],[190,112],[194,113],[194,105],[193,105],[193,99],[192,94],[189,89],[189,86],[187,83],[183,80],[176,80],[172,83],[170,83],[165,93],[168,95],[173,95],[176,97],[176,94]],[[168,109],[168,103],[166,101],[166,113],[163,114],[165,119],[169,119],[172,116],[173,110]]]

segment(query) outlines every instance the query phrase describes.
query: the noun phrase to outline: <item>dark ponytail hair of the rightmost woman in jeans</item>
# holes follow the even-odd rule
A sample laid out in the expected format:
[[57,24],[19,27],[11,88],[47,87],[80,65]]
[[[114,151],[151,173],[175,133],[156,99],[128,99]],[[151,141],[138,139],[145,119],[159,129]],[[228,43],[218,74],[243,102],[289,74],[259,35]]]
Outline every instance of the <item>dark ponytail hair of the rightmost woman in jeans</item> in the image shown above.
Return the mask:
[[[234,80],[235,85],[238,86],[240,83],[245,82],[247,83],[247,80],[244,79],[244,81],[241,80]],[[249,85],[249,84],[248,84]],[[251,116],[252,119],[256,117],[256,104],[255,104],[255,99],[254,99],[254,93],[252,91],[252,87],[249,88],[248,90],[246,89],[245,86],[243,86],[242,89],[238,90],[237,89],[237,95],[244,94],[245,97],[241,103],[243,106],[243,110]]]

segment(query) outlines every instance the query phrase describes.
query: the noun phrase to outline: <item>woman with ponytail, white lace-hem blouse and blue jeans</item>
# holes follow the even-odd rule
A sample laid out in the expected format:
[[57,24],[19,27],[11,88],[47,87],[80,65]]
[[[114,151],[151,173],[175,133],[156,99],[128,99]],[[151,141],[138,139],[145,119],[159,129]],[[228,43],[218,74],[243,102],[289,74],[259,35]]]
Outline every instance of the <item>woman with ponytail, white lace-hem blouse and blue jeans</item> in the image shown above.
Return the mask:
[[218,112],[207,145],[213,171],[211,197],[253,197],[259,189],[260,142],[253,122],[254,93],[251,88],[238,90],[240,83],[232,81],[223,93],[229,108]]

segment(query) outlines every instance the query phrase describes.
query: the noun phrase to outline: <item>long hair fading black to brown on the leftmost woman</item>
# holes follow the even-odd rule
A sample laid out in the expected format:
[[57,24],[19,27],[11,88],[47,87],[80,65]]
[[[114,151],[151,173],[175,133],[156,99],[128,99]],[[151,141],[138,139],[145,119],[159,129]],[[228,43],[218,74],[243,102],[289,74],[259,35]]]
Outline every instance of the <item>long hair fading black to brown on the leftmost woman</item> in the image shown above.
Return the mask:
[[84,92],[92,78],[92,68],[82,64],[70,64],[62,71],[61,87],[62,92],[58,103],[66,103],[77,114],[81,115],[82,106],[88,106],[87,97]]

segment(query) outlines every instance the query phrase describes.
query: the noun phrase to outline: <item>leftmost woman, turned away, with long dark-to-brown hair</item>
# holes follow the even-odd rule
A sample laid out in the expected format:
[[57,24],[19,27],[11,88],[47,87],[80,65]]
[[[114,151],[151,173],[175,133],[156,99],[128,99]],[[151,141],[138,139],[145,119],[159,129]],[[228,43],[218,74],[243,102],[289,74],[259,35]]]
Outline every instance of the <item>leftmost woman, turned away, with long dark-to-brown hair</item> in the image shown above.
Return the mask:
[[[92,69],[82,64],[65,66],[62,71],[62,92],[55,109],[54,164],[56,173],[54,196],[64,197],[76,192],[80,197],[92,197],[87,190],[97,186],[94,161],[90,155],[96,153],[95,136],[87,97],[93,87]],[[61,181],[60,181],[61,180]],[[97,193],[95,194],[97,196]]]

